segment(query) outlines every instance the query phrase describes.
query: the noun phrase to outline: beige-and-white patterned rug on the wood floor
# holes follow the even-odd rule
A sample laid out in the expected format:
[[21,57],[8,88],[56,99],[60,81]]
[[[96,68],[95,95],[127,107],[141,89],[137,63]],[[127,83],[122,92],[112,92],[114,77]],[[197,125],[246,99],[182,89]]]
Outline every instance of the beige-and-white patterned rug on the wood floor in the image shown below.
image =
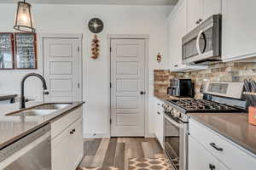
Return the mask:
[[172,170],[166,158],[131,158],[129,170]]

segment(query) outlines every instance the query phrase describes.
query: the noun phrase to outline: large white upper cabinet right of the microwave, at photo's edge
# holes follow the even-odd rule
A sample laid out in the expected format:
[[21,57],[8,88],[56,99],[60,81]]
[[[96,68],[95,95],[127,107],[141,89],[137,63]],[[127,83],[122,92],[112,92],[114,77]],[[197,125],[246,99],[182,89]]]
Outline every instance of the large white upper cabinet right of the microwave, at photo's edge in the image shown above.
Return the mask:
[[256,56],[255,7],[255,0],[223,0],[224,61]]

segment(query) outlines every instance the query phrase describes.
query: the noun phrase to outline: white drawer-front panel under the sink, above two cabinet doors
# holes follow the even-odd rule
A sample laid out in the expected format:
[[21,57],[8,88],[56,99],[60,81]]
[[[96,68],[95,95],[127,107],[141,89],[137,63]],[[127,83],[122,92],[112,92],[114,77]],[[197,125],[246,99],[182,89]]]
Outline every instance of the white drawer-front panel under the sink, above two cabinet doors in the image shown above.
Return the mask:
[[51,139],[54,139],[59,133],[75,122],[82,116],[82,107],[62,116],[59,120],[51,123]]

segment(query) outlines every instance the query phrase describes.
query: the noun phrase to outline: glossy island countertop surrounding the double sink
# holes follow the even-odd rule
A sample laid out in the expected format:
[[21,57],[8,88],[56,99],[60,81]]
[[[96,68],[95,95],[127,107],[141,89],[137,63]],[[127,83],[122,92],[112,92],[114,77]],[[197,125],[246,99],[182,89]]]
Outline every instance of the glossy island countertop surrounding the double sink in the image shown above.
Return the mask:
[[[28,102],[26,103],[26,109],[34,107],[36,105],[44,105],[45,103]],[[15,142],[15,140],[21,139],[28,133],[32,133],[34,130],[43,127],[49,122],[54,122],[61,116],[65,116],[68,112],[73,111],[84,102],[73,102],[67,107],[55,111],[52,114],[46,116],[6,116],[7,114],[20,111],[20,105],[18,103],[1,105],[0,106],[0,150],[8,144]],[[25,109],[25,110],[26,110]]]

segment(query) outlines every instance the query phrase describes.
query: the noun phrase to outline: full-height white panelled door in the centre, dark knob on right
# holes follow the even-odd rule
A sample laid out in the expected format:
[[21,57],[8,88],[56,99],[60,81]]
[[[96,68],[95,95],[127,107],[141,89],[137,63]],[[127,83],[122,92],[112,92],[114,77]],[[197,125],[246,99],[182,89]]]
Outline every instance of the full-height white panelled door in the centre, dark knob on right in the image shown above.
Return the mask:
[[145,40],[111,40],[111,136],[144,136]]

